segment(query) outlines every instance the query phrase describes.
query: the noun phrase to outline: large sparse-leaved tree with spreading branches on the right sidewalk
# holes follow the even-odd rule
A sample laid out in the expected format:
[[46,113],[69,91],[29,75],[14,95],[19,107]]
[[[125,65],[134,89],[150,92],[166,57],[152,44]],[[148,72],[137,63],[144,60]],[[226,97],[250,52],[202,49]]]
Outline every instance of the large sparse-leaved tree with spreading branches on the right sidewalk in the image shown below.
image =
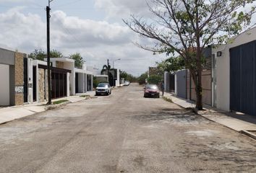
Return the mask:
[[[202,110],[202,62],[207,45],[225,43],[249,26],[253,0],[151,0],[152,19],[132,15],[124,23],[155,45],[138,45],[153,53],[179,54],[195,83],[197,109]],[[247,4],[250,9],[244,9]]]

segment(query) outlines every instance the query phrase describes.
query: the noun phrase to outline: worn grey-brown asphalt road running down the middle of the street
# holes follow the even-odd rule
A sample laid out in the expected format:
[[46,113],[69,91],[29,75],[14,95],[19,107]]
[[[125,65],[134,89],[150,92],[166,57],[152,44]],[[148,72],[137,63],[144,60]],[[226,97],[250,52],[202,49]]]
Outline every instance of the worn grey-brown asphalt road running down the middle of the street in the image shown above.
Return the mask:
[[256,172],[256,142],[137,84],[0,125],[0,172]]

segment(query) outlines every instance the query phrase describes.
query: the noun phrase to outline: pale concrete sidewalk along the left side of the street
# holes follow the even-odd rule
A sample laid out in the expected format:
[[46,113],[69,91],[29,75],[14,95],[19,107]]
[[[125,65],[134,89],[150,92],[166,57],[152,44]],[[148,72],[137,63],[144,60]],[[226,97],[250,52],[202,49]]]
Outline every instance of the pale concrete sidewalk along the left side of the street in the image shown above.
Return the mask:
[[[53,99],[52,102],[67,99],[69,102],[80,102],[85,99],[85,97],[80,97],[80,95],[90,95],[93,97],[95,92],[86,92],[77,94],[75,96],[63,97],[60,99]],[[0,124],[7,123],[9,121],[18,119],[20,117],[26,117],[28,115],[33,115],[38,112],[43,112],[47,110],[47,102],[33,103],[22,106],[4,107],[0,109]]]

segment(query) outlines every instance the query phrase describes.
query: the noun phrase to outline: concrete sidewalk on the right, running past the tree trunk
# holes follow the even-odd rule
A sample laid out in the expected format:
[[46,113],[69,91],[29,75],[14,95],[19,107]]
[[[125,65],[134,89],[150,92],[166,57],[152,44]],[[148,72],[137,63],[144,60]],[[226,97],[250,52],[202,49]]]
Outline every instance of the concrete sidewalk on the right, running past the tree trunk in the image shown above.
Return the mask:
[[[179,97],[174,96],[174,94],[165,93],[163,97],[171,99],[176,105],[179,105],[184,108],[195,107],[194,102],[191,102],[187,99],[181,99]],[[247,133],[246,135],[252,137],[254,135],[256,139],[256,118],[250,115],[243,115],[237,112],[225,112],[223,110],[218,110],[214,107],[210,107],[208,105],[204,106],[204,111],[198,111],[199,115],[207,118],[208,120],[212,120],[216,123],[224,125],[228,128],[236,130],[240,133]]]

